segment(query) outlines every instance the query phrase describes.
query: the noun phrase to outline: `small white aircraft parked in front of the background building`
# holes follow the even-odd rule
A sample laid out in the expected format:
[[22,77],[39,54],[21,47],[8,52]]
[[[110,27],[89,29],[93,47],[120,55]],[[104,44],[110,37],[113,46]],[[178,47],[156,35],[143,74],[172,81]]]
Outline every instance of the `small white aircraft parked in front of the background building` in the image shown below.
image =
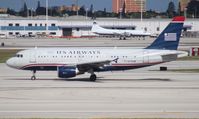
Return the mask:
[[91,32],[103,36],[119,36],[120,40],[125,40],[126,37],[145,37],[151,35],[143,30],[106,29],[99,26],[96,22],[93,22]]

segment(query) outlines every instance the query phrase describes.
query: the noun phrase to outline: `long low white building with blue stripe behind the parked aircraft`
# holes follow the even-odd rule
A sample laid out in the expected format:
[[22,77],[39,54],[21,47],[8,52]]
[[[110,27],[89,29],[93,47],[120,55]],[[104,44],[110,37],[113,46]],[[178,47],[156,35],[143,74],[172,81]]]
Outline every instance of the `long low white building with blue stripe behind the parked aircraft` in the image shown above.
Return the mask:
[[[117,18],[97,18],[95,20],[100,26],[110,29],[136,29],[145,30],[158,35],[171,21],[171,19],[117,19]],[[87,37],[96,36],[91,32],[94,20],[85,17],[45,17],[0,18],[0,34],[9,36],[31,36],[49,34],[52,37]],[[199,32],[199,20],[187,19],[184,31]]]

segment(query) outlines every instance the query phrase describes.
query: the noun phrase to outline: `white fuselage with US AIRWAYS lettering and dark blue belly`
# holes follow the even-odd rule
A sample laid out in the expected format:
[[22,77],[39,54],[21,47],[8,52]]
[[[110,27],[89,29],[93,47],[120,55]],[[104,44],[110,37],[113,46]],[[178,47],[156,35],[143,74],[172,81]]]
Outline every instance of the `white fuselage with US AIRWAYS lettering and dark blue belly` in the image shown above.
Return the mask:
[[163,56],[167,54],[187,55],[186,52],[175,50],[133,48],[35,48],[17,53],[15,57],[7,61],[7,64],[22,70],[34,70],[34,68],[57,70],[58,66],[76,66],[110,60],[112,62],[103,65],[102,69],[109,67],[110,70],[125,70],[175,60],[169,56],[165,59]]

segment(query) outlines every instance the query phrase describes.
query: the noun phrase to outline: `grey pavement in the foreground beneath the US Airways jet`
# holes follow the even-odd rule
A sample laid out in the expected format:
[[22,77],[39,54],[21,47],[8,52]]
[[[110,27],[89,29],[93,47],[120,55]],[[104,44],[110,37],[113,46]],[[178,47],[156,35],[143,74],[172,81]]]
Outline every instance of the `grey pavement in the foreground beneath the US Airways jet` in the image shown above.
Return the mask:
[[199,69],[199,61],[175,61],[72,79],[56,72],[28,71],[0,64],[0,118],[198,118],[199,73],[158,71]]

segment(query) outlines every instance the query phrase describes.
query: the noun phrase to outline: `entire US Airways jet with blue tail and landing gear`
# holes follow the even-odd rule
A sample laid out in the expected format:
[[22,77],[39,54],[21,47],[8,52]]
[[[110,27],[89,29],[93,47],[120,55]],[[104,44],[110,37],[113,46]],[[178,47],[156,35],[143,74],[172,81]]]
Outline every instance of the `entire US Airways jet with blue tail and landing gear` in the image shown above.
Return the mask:
[[59,78],[71,78],[86,72],[90,81],[96,80],[95,72],[129,70],[176,60],[187,56],[177,51],[185,18],[178,16],[144,49],[133,48],[35,48],[20,51],[7,60],[7,65],[21,70],[57,71]]

